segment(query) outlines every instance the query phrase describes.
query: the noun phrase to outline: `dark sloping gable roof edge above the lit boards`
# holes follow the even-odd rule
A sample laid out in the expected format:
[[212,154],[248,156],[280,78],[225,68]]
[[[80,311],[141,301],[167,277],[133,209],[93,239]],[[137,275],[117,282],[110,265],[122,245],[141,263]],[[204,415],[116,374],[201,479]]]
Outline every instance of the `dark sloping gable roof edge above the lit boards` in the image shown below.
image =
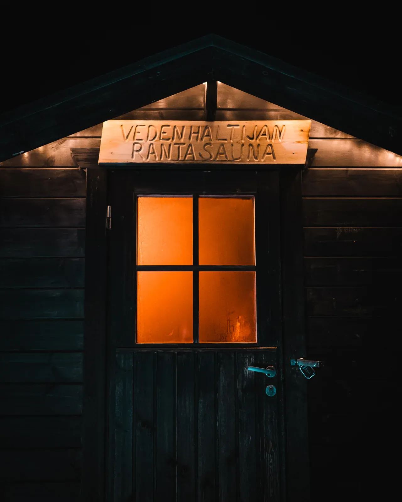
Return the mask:
[[4,113],[0,162],[208,80],[222,81],[402,154],[402,114],[393,108],[208,35]]

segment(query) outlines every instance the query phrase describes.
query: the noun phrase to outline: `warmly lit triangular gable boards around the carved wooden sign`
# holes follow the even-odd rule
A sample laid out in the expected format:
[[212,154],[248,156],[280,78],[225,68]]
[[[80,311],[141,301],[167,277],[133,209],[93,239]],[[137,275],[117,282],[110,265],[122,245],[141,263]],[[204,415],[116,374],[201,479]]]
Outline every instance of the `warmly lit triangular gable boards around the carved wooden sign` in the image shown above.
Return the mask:
[[[202,120],[204,103],[205,85],[199,84],[115,118]],[[218,83],[217,106],[217,120],[310,118],[222,82]],[[103,123],[96,124],[66,138],[2,162],[0,166],[75,166],[71,150],[93,149],[94,157],[96,157],[102,126]],[[315,120],[312,120],[309,148],[314,153],[311,164],[313,167],[402,167],[402,157]]]

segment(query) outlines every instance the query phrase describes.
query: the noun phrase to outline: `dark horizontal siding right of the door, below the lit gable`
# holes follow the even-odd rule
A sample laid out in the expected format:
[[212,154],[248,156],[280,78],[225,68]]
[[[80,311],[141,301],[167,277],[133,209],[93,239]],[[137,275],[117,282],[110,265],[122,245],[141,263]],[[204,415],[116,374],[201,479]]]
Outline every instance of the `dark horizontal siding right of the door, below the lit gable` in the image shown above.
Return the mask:
[[326,362],[309,381],[312,499],[359,498],[374,470],[368,431],[386,429],[396,392],[395,371],[369,361],[397,338],[402,170],[311,168],[303,196],[308,356]]

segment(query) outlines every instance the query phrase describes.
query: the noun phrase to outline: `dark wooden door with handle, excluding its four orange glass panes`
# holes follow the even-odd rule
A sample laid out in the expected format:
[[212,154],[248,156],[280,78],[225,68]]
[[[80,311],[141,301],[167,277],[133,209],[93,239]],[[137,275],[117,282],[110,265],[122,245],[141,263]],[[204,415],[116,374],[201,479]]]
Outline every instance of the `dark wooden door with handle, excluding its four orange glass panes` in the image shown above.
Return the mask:
[[[116,171],[109,182],[109,499],[283,499],[277,173]],[[136,258],[140,194],[254,198],[255,267],[239,269],[256,275],[254,341],[200,342],[198,274],[204,269],[194,230],[195,265],[175,268],[193,274],[192,341],[161,342],[155,333],[155,343],[137,343],[137,278],[144,270]],[[197,229],[196,207],[194,202]],[[277,373],[268,378],[249,366],[274,366]],[[275,395],[267,395],[268,386],[274,386]]]

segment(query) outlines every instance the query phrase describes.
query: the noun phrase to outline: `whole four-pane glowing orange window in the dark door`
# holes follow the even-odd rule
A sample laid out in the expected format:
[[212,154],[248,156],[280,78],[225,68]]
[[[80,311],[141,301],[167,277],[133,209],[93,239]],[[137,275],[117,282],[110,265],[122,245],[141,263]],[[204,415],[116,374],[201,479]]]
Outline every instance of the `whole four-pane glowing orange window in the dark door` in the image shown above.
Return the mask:
[[198,263],[192,204],[192,197],[137,199],[137,342],[191,343],[194,329],[200,343],[256,342],[254,198],[199,197]]

